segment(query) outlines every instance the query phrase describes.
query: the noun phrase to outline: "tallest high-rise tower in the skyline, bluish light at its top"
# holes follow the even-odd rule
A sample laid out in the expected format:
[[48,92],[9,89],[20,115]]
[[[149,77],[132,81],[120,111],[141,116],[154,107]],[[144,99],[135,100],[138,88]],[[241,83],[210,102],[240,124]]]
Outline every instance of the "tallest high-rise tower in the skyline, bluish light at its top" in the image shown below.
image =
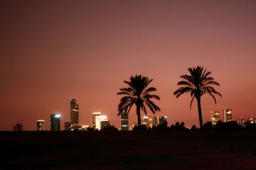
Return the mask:
[[79,129],[79,109],[76,99],[70,99],[70,124],[71,131]]

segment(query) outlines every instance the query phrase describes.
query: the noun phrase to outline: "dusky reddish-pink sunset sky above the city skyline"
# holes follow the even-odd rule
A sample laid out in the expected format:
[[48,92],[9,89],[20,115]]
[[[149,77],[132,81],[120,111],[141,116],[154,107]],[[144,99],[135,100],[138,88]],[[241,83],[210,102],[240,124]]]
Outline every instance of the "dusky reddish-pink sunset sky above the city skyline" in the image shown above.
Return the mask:
[[256,117],[256,1],[0,1],[0,24],[0,131],[21,117],[26,131],[42,119],[49,130],[52,113],[63,129],[72,97],[81,125],[92,127],[100,111],[120,127],[116,93],[134,74],[154,79],[156,115],[168,125],[198,126],[189,94],[173,96],[196,66],[212,72],[223,96],[202,97],[204,122],[212,110],[223,120],[225,107],[233,120]]

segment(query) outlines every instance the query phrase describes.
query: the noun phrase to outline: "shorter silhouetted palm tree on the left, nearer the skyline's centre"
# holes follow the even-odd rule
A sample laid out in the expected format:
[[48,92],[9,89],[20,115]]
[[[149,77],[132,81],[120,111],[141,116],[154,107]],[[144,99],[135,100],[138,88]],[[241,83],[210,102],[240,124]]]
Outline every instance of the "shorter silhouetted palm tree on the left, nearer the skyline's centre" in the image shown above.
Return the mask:
[[154,114],[156,111],[160,111],[160,108],[154,104],[151,99],[160,100],[159,96],[154,94],[150,94],[150,92],[156,91],[155,87],[149,87],[149,83],[153,81],[153,79],[149,79],[147,76],[131,76],[130,81],[124,81],[129,87],[125,87],[120,89],[120,92],[117,95],[125,95],[120,99],[120,103],[118,104],[118,115],[120,115],[123,111],[128,112],[131,110],[133,104],[136,105],[136,112],[138,116],[138,126],[140,127],[140,111],[144,111],[145,115],[147,115],[147,106]]

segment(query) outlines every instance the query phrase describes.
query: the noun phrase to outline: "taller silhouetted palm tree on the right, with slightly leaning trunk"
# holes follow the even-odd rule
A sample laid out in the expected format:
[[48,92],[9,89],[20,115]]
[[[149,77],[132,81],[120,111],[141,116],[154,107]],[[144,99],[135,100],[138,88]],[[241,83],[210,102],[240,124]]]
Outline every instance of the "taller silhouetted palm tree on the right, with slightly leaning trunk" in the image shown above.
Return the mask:
[[189,67],[188,71],[190,75],[184,74],[180,76],[180,78],[183,78],[184,80],[179,81],[178,85],[183,85],[183,87],[180,87],[173,94],[178,98],[180,95],[186,92],[189,92],[192,97],[191,103],[190,103],[190,109],[191,109],[193,100],[196,98],[200,129],[203,129],[201,96],[203,96],[205,93],[209,94],[214,99],[216,104],[216,98],[214,97],[214,94],[220,97],[222,96],[219,92],[216,92],[216,90],[213,87],[211,87],[211,85],[219,86],[220,83],[214,81],[214,78],[209,76],[211,72],[210,71],[206,72],[206,69],[204,69],[204,67],[200,67],[200,66],[197,66],[196,68]]

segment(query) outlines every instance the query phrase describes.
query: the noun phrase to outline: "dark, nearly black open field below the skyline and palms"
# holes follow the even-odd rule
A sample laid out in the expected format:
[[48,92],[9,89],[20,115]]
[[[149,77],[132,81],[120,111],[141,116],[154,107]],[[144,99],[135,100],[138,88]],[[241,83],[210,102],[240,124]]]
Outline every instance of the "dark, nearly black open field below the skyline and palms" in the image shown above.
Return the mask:
[[256,132],[0,135],[0,169],[256,169]]

